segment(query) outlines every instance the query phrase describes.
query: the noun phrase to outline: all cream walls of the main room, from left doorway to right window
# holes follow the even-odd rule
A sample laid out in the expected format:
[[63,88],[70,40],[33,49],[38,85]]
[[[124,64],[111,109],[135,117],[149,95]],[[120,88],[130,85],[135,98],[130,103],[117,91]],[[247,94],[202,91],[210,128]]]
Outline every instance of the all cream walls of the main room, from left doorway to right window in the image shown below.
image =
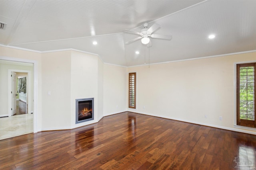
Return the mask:
[[[95,122],[129,110],[255,133],[234,127],[235,63],[256,61],[255,52],[151,64],[150,68],[104,64],[96,55],[77,51],[36,53],[0,46],[0,57],[36,61],[39,131],[87,125],[75,124],[75,99],[94,97]],[[136,109],[128,109],[128,72],[137,72]]]

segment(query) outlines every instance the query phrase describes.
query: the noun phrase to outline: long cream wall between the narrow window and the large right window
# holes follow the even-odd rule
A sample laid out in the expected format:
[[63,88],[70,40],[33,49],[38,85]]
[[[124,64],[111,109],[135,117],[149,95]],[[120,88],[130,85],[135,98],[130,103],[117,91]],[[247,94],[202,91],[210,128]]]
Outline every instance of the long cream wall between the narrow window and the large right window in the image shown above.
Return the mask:
[[135,111],[234,130],[234,63],[244,61],[256,61],[256,53],[130,67]]

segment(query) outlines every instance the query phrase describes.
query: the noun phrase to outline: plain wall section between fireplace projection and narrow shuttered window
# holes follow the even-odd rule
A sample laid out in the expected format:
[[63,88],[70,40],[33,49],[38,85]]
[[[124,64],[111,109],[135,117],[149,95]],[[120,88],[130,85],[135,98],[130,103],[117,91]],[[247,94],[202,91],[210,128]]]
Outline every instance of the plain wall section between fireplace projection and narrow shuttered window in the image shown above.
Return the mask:
[[127,68],[104,64],[104,116],[127,110]]

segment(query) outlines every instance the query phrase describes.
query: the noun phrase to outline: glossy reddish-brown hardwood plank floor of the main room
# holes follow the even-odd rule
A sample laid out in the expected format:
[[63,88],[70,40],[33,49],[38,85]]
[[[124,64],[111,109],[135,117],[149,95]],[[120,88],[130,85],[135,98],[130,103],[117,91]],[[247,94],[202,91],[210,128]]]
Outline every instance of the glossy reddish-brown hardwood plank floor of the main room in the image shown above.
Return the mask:
[[255,153],[254,135],[124,112],[73,130],[4,139],[0,169],[253,169]]

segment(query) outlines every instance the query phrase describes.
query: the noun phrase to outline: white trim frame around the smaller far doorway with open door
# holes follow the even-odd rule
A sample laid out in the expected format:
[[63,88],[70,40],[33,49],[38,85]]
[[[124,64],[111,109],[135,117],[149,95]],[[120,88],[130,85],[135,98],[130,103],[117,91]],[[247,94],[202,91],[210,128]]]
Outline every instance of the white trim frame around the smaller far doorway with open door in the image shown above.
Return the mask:
[[[12,77],[11,77],[11,74],[12,74],[12,72],[25,72],[25,73],[28,73],[28,77],[27,77],[27,84],[26,84],[26,86],[27,86],[27,104],[28,104],[28,106],[31,106],[31,98],[32,98],[32,96],[31,96],[31,94],[30,94],[30,78],[31,78],[31,72],[30,72],[30,70],[14,70],[14,69],[8,69],[8,79],[10,79],[10,81],[8,80],[8,92],[10,92],[10,91],[12,91]],[[10,83],[10,84],[9,84]],[[11,93],[9,93],[9,95],[10,95],[10,100],[8,100],[8,116],[10,117],[10,116],[12,116],[12,94]],[[8,97],[9,98],[9,97]],[[10,102],[10,103],[9,103]],[[28,114],[30,114],[32,112],[32,110],[30,109],[30,107],[28,107]]]

